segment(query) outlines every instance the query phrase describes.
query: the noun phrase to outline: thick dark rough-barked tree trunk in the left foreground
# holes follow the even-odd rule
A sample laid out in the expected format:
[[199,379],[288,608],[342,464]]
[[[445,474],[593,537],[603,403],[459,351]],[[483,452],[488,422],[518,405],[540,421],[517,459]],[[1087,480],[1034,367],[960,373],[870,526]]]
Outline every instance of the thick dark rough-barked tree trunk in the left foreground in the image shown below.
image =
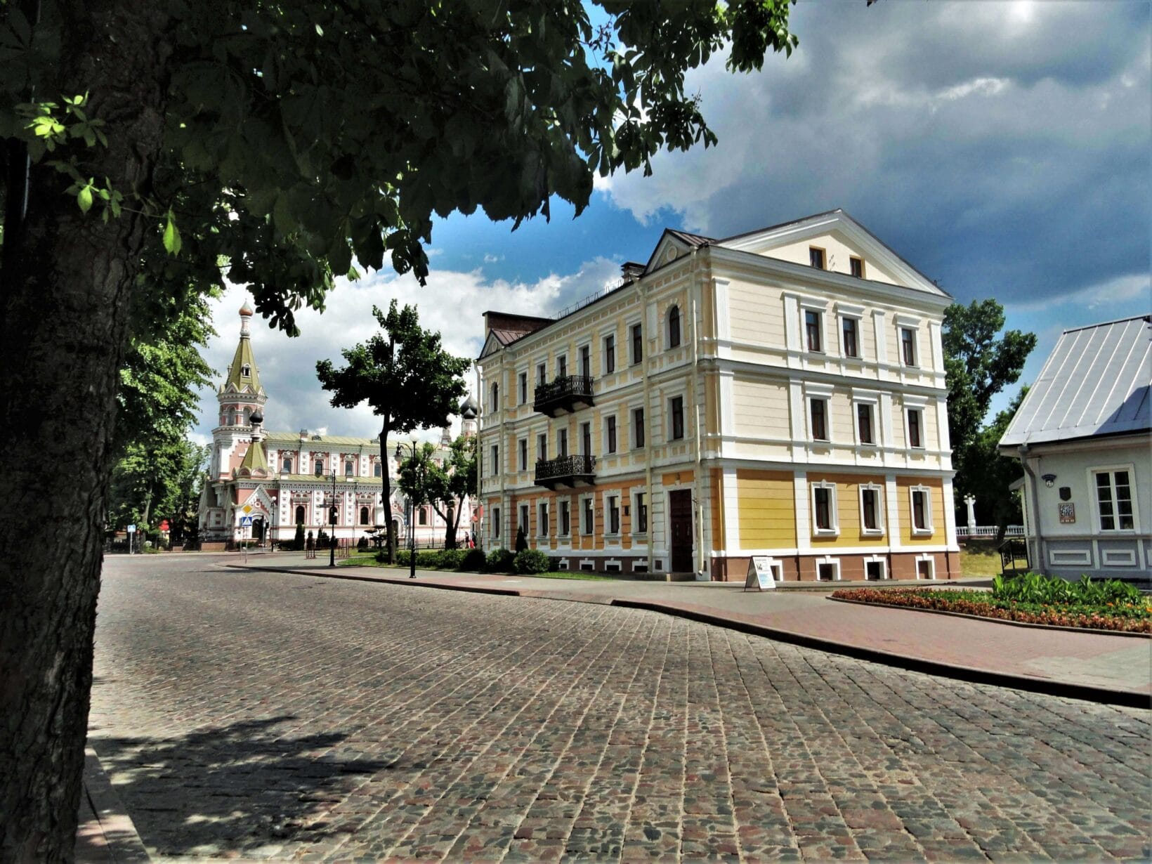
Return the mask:
[[[55,92],[89,92],[108,147],[85,176],[144,195],[160,153],[170,54],[165,6],[58,3]],[[66,158],[66,157],[65,157]],[[86,217],[70,181],[33,166],[0,268],[0,859],[70,861],[92,683],[118,370],[146,232],[127,210]],[[127,203],[127,202],[126,202]],[[132,210],[138,207],[132,204]]]

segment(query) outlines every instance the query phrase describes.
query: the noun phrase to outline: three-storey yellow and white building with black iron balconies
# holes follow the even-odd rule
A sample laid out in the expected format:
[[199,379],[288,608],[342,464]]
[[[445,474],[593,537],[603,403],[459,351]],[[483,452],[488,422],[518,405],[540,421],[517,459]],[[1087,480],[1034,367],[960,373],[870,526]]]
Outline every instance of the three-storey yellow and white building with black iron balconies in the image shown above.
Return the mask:
[[558,569],[958,575],[940,328],[952,298],[841,210],[665,230],[555,319],[485,313],[485,548]]

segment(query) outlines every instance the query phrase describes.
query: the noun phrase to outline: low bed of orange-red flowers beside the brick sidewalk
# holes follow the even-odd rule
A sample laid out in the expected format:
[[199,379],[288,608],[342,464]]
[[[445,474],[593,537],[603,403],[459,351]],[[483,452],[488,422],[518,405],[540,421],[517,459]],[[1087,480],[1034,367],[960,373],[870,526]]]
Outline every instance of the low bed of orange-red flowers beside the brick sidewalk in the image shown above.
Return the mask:
[[1020,621],[1026,624],[1076,627],[1091,630],[1123,630],[1152,634],[1152,608],[1145,598],[1132,602],[1022,602],[995,597],[988,591],[932,590],[922,588],[840,589],[832,597],[857,602],[902,606],[914,609],[956,612],[964,615]]

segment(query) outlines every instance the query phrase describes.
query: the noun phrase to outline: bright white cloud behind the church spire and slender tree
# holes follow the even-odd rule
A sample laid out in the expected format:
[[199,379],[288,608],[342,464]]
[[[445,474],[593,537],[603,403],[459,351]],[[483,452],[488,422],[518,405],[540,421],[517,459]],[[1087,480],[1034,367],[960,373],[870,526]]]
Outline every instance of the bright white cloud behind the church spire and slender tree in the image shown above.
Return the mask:
[[[260,384],[268,395],[266,427],[314,431],[327,426],[333,434],[365,437],[379,432],[379,423],[367,406],[332,408],[328,403],[331,394],[320,388],[316,378],[317,361],[331,359],[340,366],[343,363],[341,349],[364,342],[378,332],[372,316],[373,305],[387,309],[392,298],[400,305],[416,305],[420,325],[438,331],[449,353],[475,358],[484,343],[485,311],[551,314],[590,294],[602,291],[619,275],[619,263],[596,258],[584,263],[575,273],[550,273],[535,282],[488,279],[479,270],[431,270],[425,287],[410,274],[399,276],[391,272],[378,272],[357,282],[338,280],[335,290],[325,301],[323,314],[311,309],[296,313],[301,329],[296,339],[270,329],[259,317],[252,319],[252,350]],[[212,319],[219,335],[211,340],[205,355],[218,377],[213,389],[200,393],[200,424],[191,435],[196,440],[211,439],[211,430],[215,425],[214,386],[225,374],[236,350],[238,310],[245,297],[242,288],[232,287],[212,304]],[[475,372],[467,373],[465,381],[470,389],[475,388]]]

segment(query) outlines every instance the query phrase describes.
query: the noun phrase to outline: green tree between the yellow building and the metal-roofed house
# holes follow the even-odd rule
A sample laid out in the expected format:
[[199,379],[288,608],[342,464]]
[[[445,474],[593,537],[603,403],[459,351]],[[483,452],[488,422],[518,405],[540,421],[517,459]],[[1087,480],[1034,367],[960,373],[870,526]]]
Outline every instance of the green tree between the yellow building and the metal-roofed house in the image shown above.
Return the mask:
[[948,437],[956,470],[956,500],[975,494],[986,465],[978,446],[992,397],[1020,380],[1036,334],[1002,333],[1005,310],[995,300],[953,303],[943,313],[943,358],[948,386]]

